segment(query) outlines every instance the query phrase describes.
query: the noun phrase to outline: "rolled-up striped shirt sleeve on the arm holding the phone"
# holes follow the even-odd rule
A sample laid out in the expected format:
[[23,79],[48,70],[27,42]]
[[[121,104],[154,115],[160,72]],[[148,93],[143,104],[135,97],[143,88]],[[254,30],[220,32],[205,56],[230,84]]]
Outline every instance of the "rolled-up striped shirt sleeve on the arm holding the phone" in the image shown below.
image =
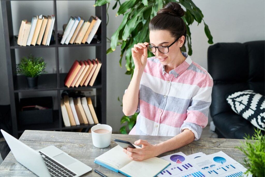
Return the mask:
[[198,88],[195,96],[191,99],[190,106],[187,109],[187,118],[180,127],[180,133],[183,132],[184,129],[191,130],[195,135],[195,141],[200,139],[202,128],[206,127],[208,123],[212,89],[212,79],[208,79]]

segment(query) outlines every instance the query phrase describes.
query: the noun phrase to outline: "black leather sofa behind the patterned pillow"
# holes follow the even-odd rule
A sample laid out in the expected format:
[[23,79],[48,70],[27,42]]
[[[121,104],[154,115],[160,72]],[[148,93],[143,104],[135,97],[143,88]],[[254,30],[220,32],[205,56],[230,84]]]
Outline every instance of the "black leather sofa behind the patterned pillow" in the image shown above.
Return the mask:
[[208,48],[208,72],[214,82],[210,114],[219,138],[243,139],[245,133],[255,133],[254,126],[229,107],[226,95],[243,90],[264,95],[264,44],[217,43]]

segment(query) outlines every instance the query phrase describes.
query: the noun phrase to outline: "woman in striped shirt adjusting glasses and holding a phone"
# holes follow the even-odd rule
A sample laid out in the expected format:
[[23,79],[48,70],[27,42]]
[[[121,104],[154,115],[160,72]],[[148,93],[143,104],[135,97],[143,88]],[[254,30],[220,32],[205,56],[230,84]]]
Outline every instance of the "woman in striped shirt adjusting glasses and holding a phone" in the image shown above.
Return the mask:
[[[180,48],[186,41],[184,10],[170,2],[149,23],[150,42],[131,49],[134,74],[123,96],[123,113],[139,112],[131,135],[174,136],[160,144],[135,141],[124,152],[133,160],[158,156],[198,140],[207,125],[213,79]],[[155,57],[147,58],[147,50]]]

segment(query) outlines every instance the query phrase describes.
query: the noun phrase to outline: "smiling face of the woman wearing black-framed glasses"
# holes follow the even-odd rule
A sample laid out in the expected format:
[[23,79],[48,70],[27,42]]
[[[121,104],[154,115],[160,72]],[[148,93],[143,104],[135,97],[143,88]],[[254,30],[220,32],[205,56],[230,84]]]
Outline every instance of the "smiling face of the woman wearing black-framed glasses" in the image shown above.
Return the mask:
[[[153,46],[169,46],[176,40],[171,36],[170,32],[167,30],[150,31],[149,39],[149,45]],[[173,61],[176,61],[176,58],[180,53],[180,47],[182,47],[184,39],[185,37],[182,36],[178,41],[171,45],[169,47],[169,52],[166,54],[161,53],[158,49],[156,49],[156,52],[153,54],[159,59],[159,61],[163,65],[173,63]]]

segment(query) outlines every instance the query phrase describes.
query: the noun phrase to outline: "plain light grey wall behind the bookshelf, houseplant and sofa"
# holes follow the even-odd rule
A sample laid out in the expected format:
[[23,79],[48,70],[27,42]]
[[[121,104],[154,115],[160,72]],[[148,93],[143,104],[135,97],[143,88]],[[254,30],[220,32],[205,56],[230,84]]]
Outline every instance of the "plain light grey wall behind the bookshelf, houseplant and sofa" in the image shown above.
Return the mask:
[[[32,1],[31,1],[32,2]],[[46,9],[46,7],[50,7],[49,3],[43,4],[42,6],[37,6],[35,3],[28,2],[12,2],[12,8],[18,10],[16,13],[13,12],[13,24],[14,31],[19,30],[20,21],[27,17],[26,19],[30,20],[32,15],[39,14],[38,11],[28,12],[19,10],[20,6],[17,6],[18,3],[27,3],[24,4],[28,9],[41,8]],[[60,18],[62,18],[61,23],[58,25],[61,27],[61,24],[67,23],[68,17],[71,15],[83,15],[83,17],[89,17],[94,14],[92,11],[90,3],[86,2],[86,6],[88,10],[81,11],[83,8],[83,2],[86,1],[75,1],[67,2],[67,1],[59,1],[60,7],[64,10],[64,12],[59,12]],[[193,0],[193,2],[201,9],[204,14],[204,20],[206,24],[209,26],[211,34],[213,36],[214,43],[217,42],[247,42],[254,40],[264,40],[265,39],[265,12],[264,12],[264,0],[255,0],[255,1],[246,1],[246,0]],[[93,4],[93,3],[92,3]],[[111,38],[111,35],[116,31],[118,25],[121,23],[122,16],[115,17],[117,12],[117,8],[112,10],[114,5],[114,1],[111,1],[111,5],[109,7],[109,24],[107,26],[107,37]],[[34,8],[33,8],[34,7]],[[58,6],[59,7],[59,6]],[[82,8],[81,8],[82,7]],[[42,12],[46,14],[47,12]],[[52,13],[52,12],[51,12]],[[63,16],[63,14],[65,14]],[[2,12],[0,14],[0,41],[3,41],[3,27],[2,27]],[[16,22],[15,22],[16,21]],[[15,27],[16,26],[16,27]],[[200,64],[202,67],[207,69],[207,49],[209,44],[207,43],[207,37],[204,33],[204,25],[197,24],[194,22],[190,27],[192,33],[192,49],[193,55],[192,59],[196,63]],[[109,43],[107,44],[107,48],[109,48]],[[88,57],[94,57],[93,52],[94,49],[89,49],[87,53],[81,53],[80,56],[87,54]],[[74,60],[75,55],[79,55],[81,50],[70,50],[70,48],[65,48],[60,51],[60,56],[64,56],[60,58],[60,62],[65,61],[64,66],[69,66],[68,62],[72,62]],[[40,51],[38,51],[40,52]],[[47,55],[49,50],[45,50],[41,52],[42,55]],[[51,51],[52,52],[52,51]],[[4,44],[0,43],[0,104],[9,104],[9,96],[8,96],[8,86],[7,86],[7,74],[6,74],[6,61],[5,61],[5,49]],[[27,54],[19,51],[16,52],[16,55]],[[70,57],[69,57],[70,55]],[[17,57],[19,57],[17,56]],[[46,56],[48,59],[48,55]],[[51,65],[49,72],[52,72],[51,66],[54,66],[52,63],[54,60],[52,55],[50,56]],[[113,132],[118,132],[120,125],[120,118],[123,116],[122,107],[120,106],[120,102],[117,101],[118,96],[122,98],[124,90],[128,87],[130,83],[130,76],[125,75],[125,60],[123,59],[123,67],[119,67],[119,59],[120,59],[120,47],[117,47],[116,51],[107,55],[107,124],[113,127]],[[69,68],[66,68],[69,69]]]

